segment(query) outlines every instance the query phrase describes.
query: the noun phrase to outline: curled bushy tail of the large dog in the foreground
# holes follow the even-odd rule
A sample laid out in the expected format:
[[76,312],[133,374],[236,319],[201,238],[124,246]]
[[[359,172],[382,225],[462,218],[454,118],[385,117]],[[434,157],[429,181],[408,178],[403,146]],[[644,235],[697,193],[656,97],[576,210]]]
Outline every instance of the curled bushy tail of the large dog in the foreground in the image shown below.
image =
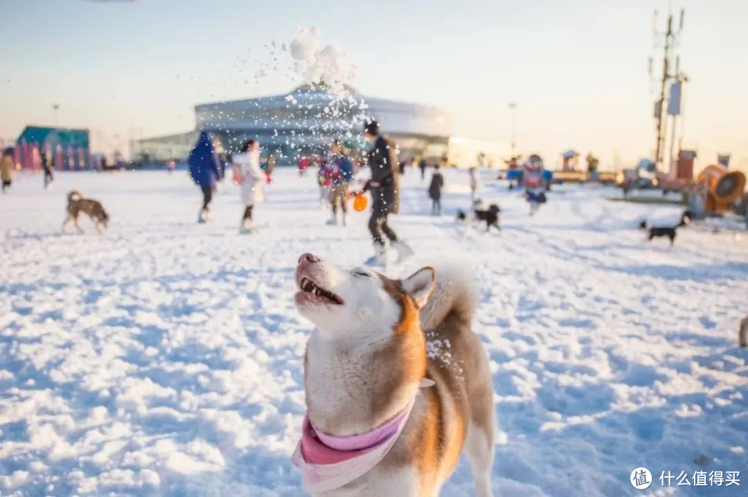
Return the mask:
[[[434,291],[420,312],[421,327],[424,331],[435,330],[453,320],[469,327],[475,307],[475,289],[468,271],[456,266],[438,267]],[[450,329],[462,327],[450,326]]]

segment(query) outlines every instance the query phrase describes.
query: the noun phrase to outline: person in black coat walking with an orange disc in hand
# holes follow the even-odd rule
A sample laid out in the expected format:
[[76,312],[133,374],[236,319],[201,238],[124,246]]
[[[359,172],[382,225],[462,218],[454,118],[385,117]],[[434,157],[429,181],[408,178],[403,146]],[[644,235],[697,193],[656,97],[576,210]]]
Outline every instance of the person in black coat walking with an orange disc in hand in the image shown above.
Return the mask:
[[372,172],[371,179],[364,185],[364,191],[372,196],[372,214],[369,218],[369,231],[374,241],[375,256],[369,261],[373,265],[383,265],[386,260],[384,238],[397,251],[398,261],[413,254],[405,242],[397,238],[396,233],[387,223],[389,214],[399,210],[399,172],[397,170],[397,153],[395,143],[382,136],[379,123],[369,119],[364,124],[364,137],[373,143],[367,154],[367,161]]

